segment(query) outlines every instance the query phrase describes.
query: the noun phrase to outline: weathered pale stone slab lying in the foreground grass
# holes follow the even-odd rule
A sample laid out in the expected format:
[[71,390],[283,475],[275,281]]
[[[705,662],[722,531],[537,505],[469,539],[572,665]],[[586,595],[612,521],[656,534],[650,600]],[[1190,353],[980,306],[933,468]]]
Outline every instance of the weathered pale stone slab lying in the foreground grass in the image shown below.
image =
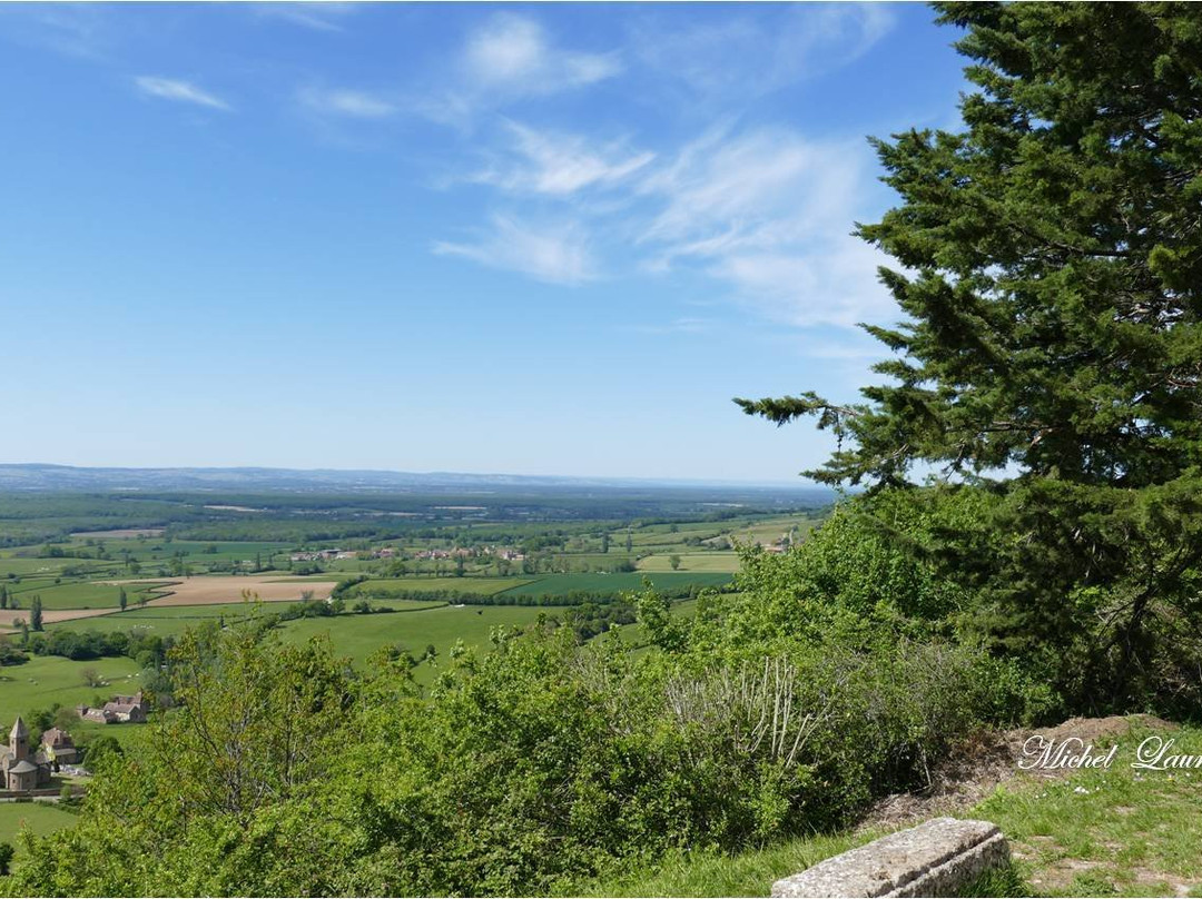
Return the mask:
[[819,862],[772,885],[774,897],[957,895],[1010,846],[988,821],[936,817]]

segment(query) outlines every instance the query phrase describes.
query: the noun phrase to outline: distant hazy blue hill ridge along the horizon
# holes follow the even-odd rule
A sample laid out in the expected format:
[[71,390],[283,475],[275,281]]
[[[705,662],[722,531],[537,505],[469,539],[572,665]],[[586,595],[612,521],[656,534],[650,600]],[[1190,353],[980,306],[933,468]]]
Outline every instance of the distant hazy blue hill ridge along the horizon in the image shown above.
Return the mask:
[[722,484],[702,481],[465,475],[456,472],[340,471],[335,469],[101,469],[71,465],[0,464],[0,492],[25,490],[297,490],[297,492],[442,492],[442,490],[715,490],[786,493],[826,502],[833,494],[804,484]]

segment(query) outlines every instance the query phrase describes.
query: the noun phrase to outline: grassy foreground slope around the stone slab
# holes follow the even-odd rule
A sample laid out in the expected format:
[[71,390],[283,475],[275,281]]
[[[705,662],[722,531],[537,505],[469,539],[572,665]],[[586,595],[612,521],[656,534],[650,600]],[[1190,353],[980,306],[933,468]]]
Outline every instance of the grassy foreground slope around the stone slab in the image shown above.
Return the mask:
[[[1202,758],[1202,730],[1136,730],[1119,740],[1108,770],[1054,780],[1023,778],[962,817],[996,823],[1014,858],[1013,873],[975,895],[1202,895],[1202,768],[1138,770],[1147,738],[1174,740],[1172,755]],[[1111,742],[1100,740],[1105,749]],[[721,856],[671,856],[581,887],[584,895],[768,895],[772,883],[885,833],[865,829],[805,837],[767,849]],[[977,885],[978,887],[982,885]]]

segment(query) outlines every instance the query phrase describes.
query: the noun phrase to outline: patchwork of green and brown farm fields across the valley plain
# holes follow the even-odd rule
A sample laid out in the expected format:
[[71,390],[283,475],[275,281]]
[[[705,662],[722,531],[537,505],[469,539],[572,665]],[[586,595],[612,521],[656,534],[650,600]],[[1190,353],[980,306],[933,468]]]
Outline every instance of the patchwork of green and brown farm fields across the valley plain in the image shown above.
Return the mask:
[[[368,581],[345,593],[343,614],[282,621],[276,633],[290,642],[329,635],[334,651],[356,663],[389,644],[417,657],[433,645],[434,662],[423,661],[415,669],[415,677],[428,683],[457,641],[487,650],[495,627],[529,625],[543,614],[563,618],[565,607],[554,603],[572,594],[606,601],[641,590],[647,577],[672,593],[726,584],[739,564],[728,549],[731,537],[745,538],[760,529],[767,542],[790,529],[801,534],[813,524],[804,506],[792,514],[766,507],[739,510],[731,518],[689,519],[643,500],[621,512],[588,498],[564,505],[564,517],[557,519],[561,511],[553,498],[538,513],[549,517],[529,519],[530,507],[523,499],[516,512],[499,507],[493,510],[500,512],[498,518],[481,520],[474,511],[474,520],[466,520],[460,507],[480,506],[478,498],[459,501],[439,495],[422,513],[404,506],[403,516],[393,516],[398,502],[411,500],[394,495],[298,500],[284,494],[256,498],[208,492],[191,499],[171,495],[136,501],[127,495],[0,496],[0,543],[5,544],[0,585],[17,606],[0,609],[0,630],[8,631],[0,639],[19,647],[17,621],[32,624],[35,596],[41,600],[42,625],[52,635],[130,632],[169,639],[197,625],[228,625],[254,614],[242,599],[244,591],[268,603],[262,613],[272,614],[281,611],[279,603],[299,601],[302,594],[323,600],[339,581],[367,574]],[[379,511],[364,514],[364,504]],[[250,516],[237,511],[243,507],[266,511]],[[601,508],[603,516],[581,517],[581,510]],[[695,505],[691,511],[712,516],[722,510]],[[433,550],[457,549],[466,550],[463,561],[429,558]],[[320,558],[333,550],[363,558]],[[671,568],[671,555],[680,556],[677,571]],[[456,577],[460,565],[462,576]],[[633,565],[637,571],[618,572]],[[119,611],[123,589],[125,612]],[[468,602],[448,602],[446,595],[453,594],[464,595]],[[472,605],[472,595],[498,605]],[[517,605],[543,596],[551,605]],[[361,600],[393,611],[352,613]],[[689,614],[691,608],[692,603],[678,602],[674,614]],[[645,643],[637,625],[614,632],[633,645]],[[108,683],[88,686],[83,672],[89,668]],[[55,703],[73,707],[132,692],[141,679],[138,663],[124,656],[72,661],[30,654],[23,665],[0,668],[0,725]],[[77,721],[71,732],[81,743],[105,734],[130,744],[148,730]]]

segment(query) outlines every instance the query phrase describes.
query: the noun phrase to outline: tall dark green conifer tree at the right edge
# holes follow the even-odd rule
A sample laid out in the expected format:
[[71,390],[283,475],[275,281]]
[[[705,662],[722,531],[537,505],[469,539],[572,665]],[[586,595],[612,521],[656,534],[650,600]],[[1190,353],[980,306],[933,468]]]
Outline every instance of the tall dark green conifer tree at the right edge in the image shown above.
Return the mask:
[[1202,8],[936,8],[975,90],[962,131],[874,142],[900,197],[858,228],[897,262],[904,321],[867,328],[887,381],[737,403],[833,429],[820,481],[1002,494],[987,558],[980,532],[936,547],[994,603],[980,621],[1078,702],[1138,704],[1180,674],[1164,636],[1196,642]]

